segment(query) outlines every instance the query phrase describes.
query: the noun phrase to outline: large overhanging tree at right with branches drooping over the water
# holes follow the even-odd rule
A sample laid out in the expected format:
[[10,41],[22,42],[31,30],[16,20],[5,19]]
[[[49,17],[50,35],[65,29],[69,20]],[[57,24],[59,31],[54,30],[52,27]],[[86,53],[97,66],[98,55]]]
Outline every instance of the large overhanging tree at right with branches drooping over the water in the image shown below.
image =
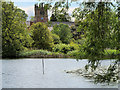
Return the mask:
[[[113,10],[114,5],[111,2],[83,2],[80,5],[81,7],[73,13],[76,20],[80,20],[78,31],[83,30],[83,36],[85,37],[85,42],[80,47],[80,56],[84,52],[85,57],[89,59],[89,64],[86,67],[92,67],[92,70],[95,70],[99,65],[99,61],[104,59],[107,48],[118,50],[117,55],[108,53],[109,58],[119,59],[119,10],[117,9],[118,11],[115,12]],[[77,13],[78,11],[79,13]],[[112,76],[117,78],[118,72],[114,73],[118,68],[117,63],[118,60],[113,65],[110,65],[108,72],[104,75],[97,75],[95,78],[96,82],[109,83],[112,81]],[[116,82],[117,80],[114,81]]]

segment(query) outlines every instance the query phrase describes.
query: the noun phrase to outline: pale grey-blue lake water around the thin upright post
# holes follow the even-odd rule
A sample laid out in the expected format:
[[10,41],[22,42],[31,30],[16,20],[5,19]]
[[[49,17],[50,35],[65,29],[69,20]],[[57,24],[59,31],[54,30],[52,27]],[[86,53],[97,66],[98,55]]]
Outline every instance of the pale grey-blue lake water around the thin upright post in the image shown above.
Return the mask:
[[[87,60],[44,59],[4,59],[2,60],[3,88],[118,88],[117,84],[94,84],[82,76],[67,74],[64,70],[83,68]],[[102,61],[103,65],[112,63]]]

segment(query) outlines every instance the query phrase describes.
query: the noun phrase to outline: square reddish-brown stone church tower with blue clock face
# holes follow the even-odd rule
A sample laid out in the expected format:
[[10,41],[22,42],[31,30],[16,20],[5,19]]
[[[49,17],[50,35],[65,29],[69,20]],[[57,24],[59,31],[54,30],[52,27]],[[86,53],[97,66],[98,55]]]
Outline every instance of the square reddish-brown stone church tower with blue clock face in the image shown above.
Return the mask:
[[44,8],[43,3],[35,4],[35,23],[36,22],[47,22],[48,21],[48,13]]

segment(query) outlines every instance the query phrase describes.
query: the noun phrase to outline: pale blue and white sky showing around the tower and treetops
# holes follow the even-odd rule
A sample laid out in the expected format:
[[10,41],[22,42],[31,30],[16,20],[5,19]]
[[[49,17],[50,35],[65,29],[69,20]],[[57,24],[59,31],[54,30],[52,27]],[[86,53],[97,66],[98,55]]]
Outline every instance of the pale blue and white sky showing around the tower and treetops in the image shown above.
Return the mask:
[[[28,14],[28,19],[30,18],[30,16],[34,16],[34,5],[36,3],[40,3],[41,1],[43,2],[44,0],[41,0],[41,1],[33,1],[33,0],[24,0],[24,1],[21,1],[21,0],[11,0],[14,2],[14,5],[17,6],[18,8],[24,10],[27,14]],[[45,2],[45,1],[44,1]],[[69,15],[72,14],[72,11],[76,8],[76,7],[79,7],[79,5],[76,3],[76,2],[73,2],[71,3],[71,6],[69,8]],[[51,11],[49,10],[48,11],[48,18],[50,18],[51,16]],[[72,21],[74,21],[74,18],[72,18]]]

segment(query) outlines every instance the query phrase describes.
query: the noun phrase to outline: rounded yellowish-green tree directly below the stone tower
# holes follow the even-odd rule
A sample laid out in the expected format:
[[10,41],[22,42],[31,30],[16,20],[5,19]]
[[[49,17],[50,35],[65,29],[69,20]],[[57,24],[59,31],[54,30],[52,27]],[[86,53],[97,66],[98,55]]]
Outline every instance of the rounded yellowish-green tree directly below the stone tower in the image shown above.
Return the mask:
[[35,23],[30,27],[31,36],[34,40],[34,47],[38,49],[50,50],[53,45],[52,34],[48,27],[41,22]]

